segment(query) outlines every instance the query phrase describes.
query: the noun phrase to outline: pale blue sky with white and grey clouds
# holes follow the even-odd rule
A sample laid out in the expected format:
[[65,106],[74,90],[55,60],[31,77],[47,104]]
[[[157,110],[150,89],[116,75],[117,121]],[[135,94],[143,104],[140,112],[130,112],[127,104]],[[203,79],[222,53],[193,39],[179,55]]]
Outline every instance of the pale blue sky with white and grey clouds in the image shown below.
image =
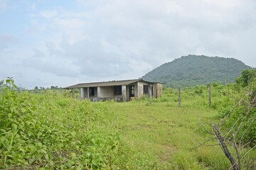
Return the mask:
[[186,55],[256,67],[255,0],[0,0],[0,80],[138,79]]

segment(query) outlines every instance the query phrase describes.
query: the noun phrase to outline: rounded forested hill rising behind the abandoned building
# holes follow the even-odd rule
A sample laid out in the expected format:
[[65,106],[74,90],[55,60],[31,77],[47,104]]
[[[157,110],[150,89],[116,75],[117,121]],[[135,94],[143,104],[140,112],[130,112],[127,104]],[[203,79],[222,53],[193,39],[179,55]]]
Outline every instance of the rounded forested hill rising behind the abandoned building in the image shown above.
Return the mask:
[[142,77],[167,86],[195,86],[213,82],[234,82],[243,69],[252,69],[240,60],[224,57],[188,55],[166,62]]

